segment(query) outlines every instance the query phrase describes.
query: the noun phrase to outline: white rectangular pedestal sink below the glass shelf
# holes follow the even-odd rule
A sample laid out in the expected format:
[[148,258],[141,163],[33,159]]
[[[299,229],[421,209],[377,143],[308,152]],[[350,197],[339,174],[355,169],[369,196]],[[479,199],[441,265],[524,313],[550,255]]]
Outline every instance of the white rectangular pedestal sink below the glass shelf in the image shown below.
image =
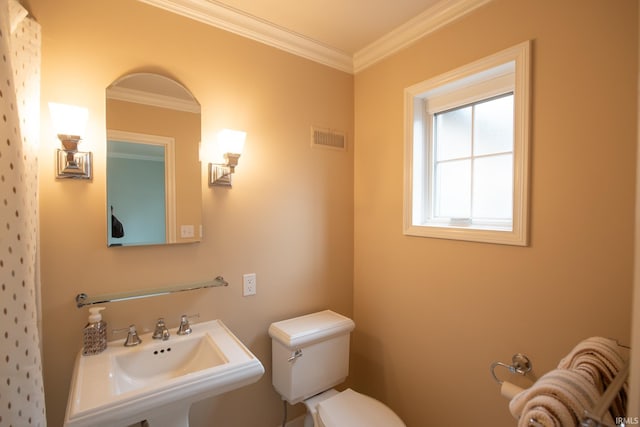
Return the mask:
[[192,324],[189,335],[142,344],[109,343],[104,352],[76,358],[65,427],[187,427],[193,402],[262,377],[260,361],[220,321]]

